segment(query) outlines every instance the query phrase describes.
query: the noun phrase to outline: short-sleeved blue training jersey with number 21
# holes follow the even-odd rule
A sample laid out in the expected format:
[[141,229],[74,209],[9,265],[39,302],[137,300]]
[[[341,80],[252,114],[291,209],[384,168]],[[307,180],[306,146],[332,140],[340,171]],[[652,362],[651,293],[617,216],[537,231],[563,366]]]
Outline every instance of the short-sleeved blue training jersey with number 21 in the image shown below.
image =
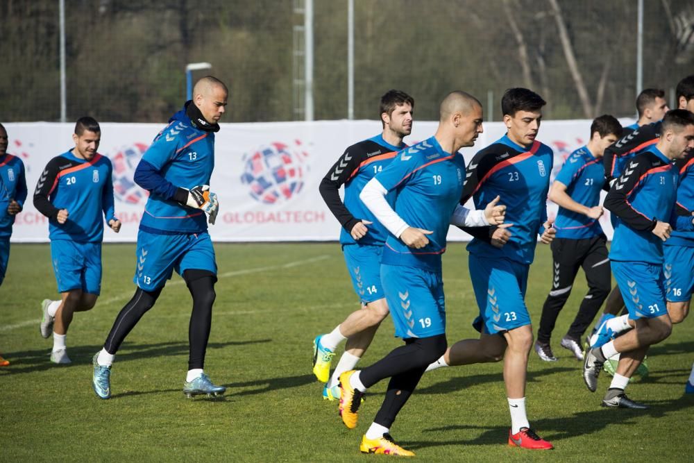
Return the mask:
[[[566,194],[573,201],[593,208],[600,204],[604,175],[602,159],[595,158],[586,146],[582,146],[566,158],[555,180],[566,185]],[[597,219],[561,206],[557,212],[555,228],[557,238],[585,239],[603,234]]]

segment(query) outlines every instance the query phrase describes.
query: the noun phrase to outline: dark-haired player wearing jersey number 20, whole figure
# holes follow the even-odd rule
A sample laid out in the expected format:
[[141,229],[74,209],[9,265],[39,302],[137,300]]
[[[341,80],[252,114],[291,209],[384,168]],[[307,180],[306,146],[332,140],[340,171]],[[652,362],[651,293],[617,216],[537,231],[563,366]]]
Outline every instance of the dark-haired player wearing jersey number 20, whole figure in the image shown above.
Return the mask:
[[44,299],[40,333],[53,332],[51,362],[69,364],[65,339],[75,312],[92,310],[101,293],[103,217],[119,232],[113,207],[111,162],[96,152],[101,128],[81,117],[72,135],[75,146],[51,159],[34,192],[35,208],[49,218],[51,260],[60,301]]

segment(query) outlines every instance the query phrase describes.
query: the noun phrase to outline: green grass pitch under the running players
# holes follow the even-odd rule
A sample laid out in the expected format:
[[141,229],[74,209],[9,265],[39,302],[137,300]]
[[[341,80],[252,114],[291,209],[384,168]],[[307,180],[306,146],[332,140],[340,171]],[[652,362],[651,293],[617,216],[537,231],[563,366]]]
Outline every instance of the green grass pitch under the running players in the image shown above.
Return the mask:
[[[205,370],[228,387],[224,400],[186,399],[187,326],[191,301],[175,276],[157,305],[130,333],[112,370],[113,397],[90,385],[91,357],[134,292],[135,246],[105,245],[96,308],[76,314],[67,337],[73,363],[49,362],[51,339],[38,330],[40,301],[55,298],[47,245],[14,245],[0,287],[2,461],[382,461],[359,453],[359,439],[386,387],[371,389],[356,430],[337,404],[323,401],[311,373],[312,339],[358,307],[337,244],[218,244],[219,283]],[[477,314],[462,244],[444,262],[448,341],[476,337]],[[538,323],[551,278],[548,246],[538,246],[527,305]],[[691,319],[650,351],[650,376],[628,393],[649,410],[606,410],[583,384],[581,364],[559,347],[586,288],[579,274],[552,344],[559,361],[531,353],[527,412],[555,450],[530,453],[506,445],[510,425],[502,364],[427,373],[392,433],[427,461],[692,461],[693,396],[684,382],[694,360]],[[366,366],[391,348],[384,321]]]

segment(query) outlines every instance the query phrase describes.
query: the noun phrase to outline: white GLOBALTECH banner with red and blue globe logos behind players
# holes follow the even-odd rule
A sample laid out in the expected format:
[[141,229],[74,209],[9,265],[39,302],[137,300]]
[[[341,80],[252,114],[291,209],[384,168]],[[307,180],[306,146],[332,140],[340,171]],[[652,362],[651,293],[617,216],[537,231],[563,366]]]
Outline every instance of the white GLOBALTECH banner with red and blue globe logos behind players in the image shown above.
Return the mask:
[[[623,124],[631,123],[625,119]],[[408,144],[430,137],[438,123],[414,123]],[[51,158],[74,147],[74,124],[46,122],[5,124],[8,153],[22,158],[29,190],[24,211],[17,216],[12,242],[47,242],[48,219],[33,207],[33,190]],[[552,179],[566,157],[585,144],[591,121],[544,121],[539,140],[555,152]],[[104,231],[105,242],[135,242],[147,195],[133,182],[133,172],[151,140],[164,124],[101,124],[99,153],[113,163],[115,208],[123,222],[117,235]],[[379,121],[317,121],[222,124],[215,144],[211,189],[219,195],[217,224],[212,238],[220,242],[337,240],[339,224],[323,203],[318,187],[347,146],[381,131]],[[462,152],[469,161],[475,152],[505,133],[500,122],[484,124],[477,144]],[[502,199],[503,201],[503,199]],[[556,205],[548,202],[553,217]],[[611,237],[609,215],[600,219]],[[470,237],[451,228],[449,239]]]

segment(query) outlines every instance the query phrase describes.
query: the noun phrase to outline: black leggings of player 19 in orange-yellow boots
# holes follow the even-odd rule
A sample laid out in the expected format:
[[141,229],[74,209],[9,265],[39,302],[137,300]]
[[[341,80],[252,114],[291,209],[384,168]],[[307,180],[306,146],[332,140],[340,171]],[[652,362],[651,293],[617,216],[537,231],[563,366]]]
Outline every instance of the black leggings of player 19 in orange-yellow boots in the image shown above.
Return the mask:
[[391,378],[383,404],[373,420],[375,423],[390,428],[424,371],[446,352],[446,346],[446,335],[405,339],[405,346],[393,349],[382,360],[359,373],[365,387]]

